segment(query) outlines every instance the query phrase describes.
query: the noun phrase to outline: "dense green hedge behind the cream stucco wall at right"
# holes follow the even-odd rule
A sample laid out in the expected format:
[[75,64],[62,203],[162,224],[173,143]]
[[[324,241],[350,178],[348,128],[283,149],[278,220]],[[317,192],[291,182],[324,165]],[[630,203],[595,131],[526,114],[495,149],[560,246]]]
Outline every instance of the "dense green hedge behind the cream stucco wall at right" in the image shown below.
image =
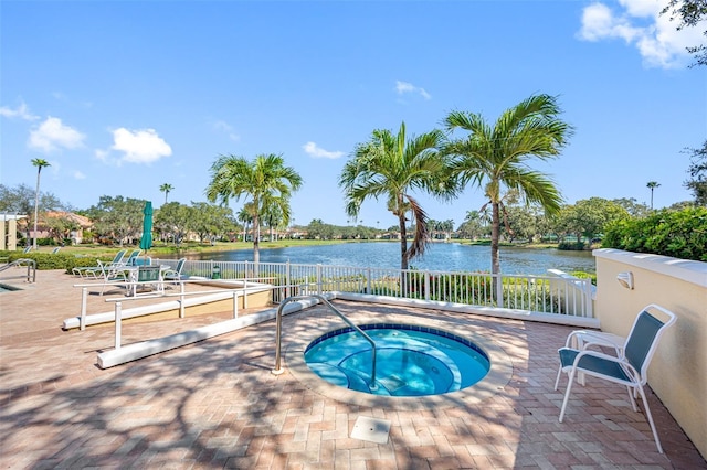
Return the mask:
[[707,207],[615,222],[604,233],[602,247],[707,261]]

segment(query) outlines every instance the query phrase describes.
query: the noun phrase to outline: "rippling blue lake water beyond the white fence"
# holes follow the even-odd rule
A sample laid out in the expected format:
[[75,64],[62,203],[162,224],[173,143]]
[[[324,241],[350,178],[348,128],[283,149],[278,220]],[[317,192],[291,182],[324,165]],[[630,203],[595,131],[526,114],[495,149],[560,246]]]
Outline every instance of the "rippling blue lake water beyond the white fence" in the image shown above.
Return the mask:
[[[342,243],[336,245],[298,246],[261,249],[262,263],[295,263],[372,268],[399,268],[400,243]],[[252,249],[219,252],[189,256],[189,259],[221,261],[252,261]],[[490,271],[490,247],[458,243],[433,243],[425,255],[410,266],[439,271]],[[548,269],[566,273],[595,273],[590,252],[561,252],[558,249],[500,248],[500,270],[504,274],[545,275]]]

